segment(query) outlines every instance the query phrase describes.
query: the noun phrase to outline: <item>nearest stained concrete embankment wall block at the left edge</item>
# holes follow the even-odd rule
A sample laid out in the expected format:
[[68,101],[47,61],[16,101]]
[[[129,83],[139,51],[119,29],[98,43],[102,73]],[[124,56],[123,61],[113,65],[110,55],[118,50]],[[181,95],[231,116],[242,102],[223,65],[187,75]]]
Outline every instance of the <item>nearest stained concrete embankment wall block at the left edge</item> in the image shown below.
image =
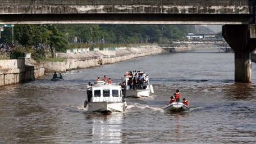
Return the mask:
[[25,59],[0,60],[0,86],[35,80],[44,73],[42,64],[26,65]]

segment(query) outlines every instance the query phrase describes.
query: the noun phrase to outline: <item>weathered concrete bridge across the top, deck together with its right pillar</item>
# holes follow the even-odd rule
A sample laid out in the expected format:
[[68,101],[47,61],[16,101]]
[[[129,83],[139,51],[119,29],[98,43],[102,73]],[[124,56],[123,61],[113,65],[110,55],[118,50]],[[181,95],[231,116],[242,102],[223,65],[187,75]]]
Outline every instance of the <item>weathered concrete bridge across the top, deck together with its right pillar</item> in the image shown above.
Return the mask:
[[256,0],[0,0],[0,24],[224,24],[235,81],[251,82]]

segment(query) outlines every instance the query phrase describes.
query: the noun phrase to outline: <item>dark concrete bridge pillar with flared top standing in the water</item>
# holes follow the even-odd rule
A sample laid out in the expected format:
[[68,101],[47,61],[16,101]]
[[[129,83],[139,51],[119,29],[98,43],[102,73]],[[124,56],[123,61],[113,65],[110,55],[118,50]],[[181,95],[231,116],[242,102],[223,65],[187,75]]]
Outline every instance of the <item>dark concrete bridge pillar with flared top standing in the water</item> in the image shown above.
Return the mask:
[[256,48],[254,25],[224,25],[222,36],[235,52],[235,81],[251,82],[251,52]]

